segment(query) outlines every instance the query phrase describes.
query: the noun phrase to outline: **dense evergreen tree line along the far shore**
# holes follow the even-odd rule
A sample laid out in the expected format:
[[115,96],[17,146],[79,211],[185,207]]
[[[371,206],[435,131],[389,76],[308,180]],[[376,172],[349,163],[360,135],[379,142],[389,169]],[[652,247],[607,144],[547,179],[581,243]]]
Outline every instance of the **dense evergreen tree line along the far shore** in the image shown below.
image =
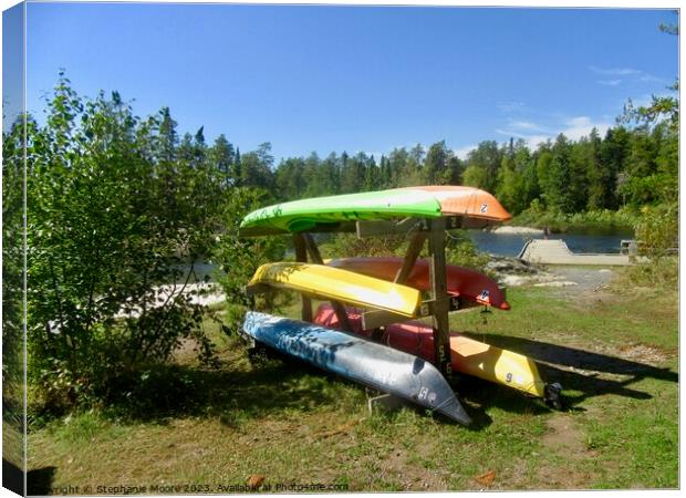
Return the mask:
[[[181,149],[201,142],[186,135]],[[617,125],[572,141],[558,135],[531,149],[523,139],[484,141],[465,159],[445,141],[425,149],[394,148],[381,157],[331,153],[289,157],[274,165],[269,143],[232,153],[221,135],[212,149],[229,151],[232,185],[273,193],[276,200],[413,185],[468,185],[493,194],[512,214],[532,204],[559,212],[612,209],[672,200],[678,177],[678,134],[669,121]]]

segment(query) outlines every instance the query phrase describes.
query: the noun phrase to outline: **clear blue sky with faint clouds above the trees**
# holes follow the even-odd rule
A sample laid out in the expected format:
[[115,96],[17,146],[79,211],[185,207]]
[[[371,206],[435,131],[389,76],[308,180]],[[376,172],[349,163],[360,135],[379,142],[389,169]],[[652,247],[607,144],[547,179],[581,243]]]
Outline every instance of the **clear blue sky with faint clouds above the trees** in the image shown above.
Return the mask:
[[531,144],[614,124],[678,71],[667,10],[29,3],[28,108],[60,68],[80,94],[169,106],[242,152],[380,155]]

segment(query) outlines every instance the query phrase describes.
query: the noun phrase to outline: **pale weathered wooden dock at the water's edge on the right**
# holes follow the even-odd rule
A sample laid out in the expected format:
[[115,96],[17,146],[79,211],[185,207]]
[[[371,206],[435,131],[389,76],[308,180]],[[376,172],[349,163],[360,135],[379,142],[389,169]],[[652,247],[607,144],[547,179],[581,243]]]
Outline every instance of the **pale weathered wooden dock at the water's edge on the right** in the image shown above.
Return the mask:
[[528,240],[519,252],[519,259],[541,264],[590,264],[590,266],[628,266],[637,262],[638,257],[628,255],[575,253],[564,240]]

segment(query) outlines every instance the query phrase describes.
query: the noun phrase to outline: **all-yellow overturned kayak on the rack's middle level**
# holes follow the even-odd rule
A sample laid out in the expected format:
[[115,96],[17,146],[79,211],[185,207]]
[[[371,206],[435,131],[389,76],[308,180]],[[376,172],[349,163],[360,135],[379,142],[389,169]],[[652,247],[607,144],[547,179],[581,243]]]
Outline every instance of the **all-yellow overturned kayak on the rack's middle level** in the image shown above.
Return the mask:
[[412,287],[324,264],[274,262],[257,269],[248,286],[291,289],[319,299],[415,317],[422,293]]

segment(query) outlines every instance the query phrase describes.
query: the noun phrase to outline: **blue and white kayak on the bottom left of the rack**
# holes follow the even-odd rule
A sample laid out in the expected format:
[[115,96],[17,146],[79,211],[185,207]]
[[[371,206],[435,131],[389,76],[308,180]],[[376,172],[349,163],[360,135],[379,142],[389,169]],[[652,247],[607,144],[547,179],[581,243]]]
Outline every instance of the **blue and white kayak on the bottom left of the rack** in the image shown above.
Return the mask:
[[243,331],[320,369],[471,424],[445,377],[420,357],[337,330],[254,311],[246,314]]

